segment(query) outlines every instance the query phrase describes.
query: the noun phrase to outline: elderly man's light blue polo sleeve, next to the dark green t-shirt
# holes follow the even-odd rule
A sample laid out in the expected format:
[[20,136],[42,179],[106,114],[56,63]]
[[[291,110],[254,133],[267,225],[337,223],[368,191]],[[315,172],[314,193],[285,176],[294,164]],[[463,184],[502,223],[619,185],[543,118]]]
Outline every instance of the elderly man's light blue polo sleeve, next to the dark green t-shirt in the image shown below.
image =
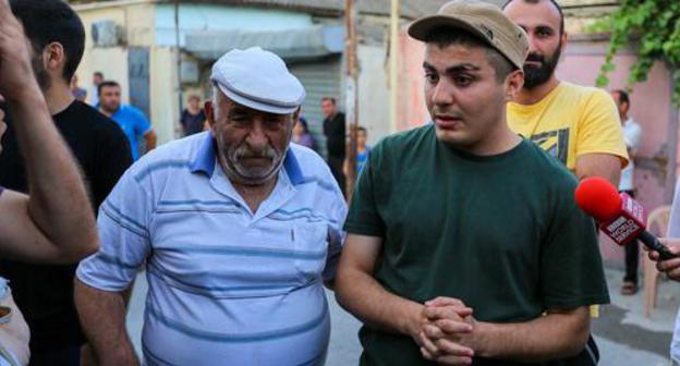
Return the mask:
[[336,271],[338,270],[338,261],[340,260],[340,254],[342,253],[342,244],[344,243],[345,233],[342,230],[342,224],[347,217],[348,207],[344,202],[344,196],[340,192],[340,187],[335,184],[335,179],[330,171],[328,171],[328,181],[333,183],[333,198],[330,203],[330,220],[328,225],[328,255],[326,257],[326,267],[324,268],[324,281],[332,281],[336,278]]

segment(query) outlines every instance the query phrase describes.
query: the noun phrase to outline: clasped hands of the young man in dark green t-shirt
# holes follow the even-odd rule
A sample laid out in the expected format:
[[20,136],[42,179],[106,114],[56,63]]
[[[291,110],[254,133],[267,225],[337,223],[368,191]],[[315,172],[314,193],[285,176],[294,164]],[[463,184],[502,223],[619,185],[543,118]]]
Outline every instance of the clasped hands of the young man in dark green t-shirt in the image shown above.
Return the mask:
[[474,356],[472,309],[451,297],[425,303],[427,322],[420,334],[423,357],[442,365],[471,365]]

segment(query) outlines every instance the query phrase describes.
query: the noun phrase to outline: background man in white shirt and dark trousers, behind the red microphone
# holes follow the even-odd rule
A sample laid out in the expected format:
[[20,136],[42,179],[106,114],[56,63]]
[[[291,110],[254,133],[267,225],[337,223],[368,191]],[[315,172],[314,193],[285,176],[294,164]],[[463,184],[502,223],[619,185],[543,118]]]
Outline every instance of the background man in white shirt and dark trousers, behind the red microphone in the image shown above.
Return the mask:
[[[626,168],[621,170],[621,180],[619,181],[619,192],[624,192],[629,196],[635,196],[635,185],[633,183],[633,173],[635,170],[634,158],[640,148],[640,141],[642,138],[642,129],[638,122],[628,114],[630,110],[630,97],[628,93],[621,89],[611,91],[611,97],[616,101],[619,109],[619,117],[621,118],[621,125],[623,130],[623,141],[628,148],[629,162]],[[633,242],[626,246],[626,276],[623,277],[623,286],[621,288],[621,294],[632,295],[638,292],[638,264],[640,259],[640,245],[638,242]]]

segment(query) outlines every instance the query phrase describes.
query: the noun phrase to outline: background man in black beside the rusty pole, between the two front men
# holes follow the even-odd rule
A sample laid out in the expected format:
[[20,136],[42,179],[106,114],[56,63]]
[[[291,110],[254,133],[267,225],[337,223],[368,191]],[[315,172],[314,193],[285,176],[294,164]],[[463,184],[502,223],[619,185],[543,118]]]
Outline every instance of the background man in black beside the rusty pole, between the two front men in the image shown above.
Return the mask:
[[344,113],[338,111],[336,99],[329,97],[321,99],[321,112],[324,112],[324,135],[326,135],[328,166],[340,185],[340,191],[347,194],[344,192],[345,178],[342,172],[347,144]]

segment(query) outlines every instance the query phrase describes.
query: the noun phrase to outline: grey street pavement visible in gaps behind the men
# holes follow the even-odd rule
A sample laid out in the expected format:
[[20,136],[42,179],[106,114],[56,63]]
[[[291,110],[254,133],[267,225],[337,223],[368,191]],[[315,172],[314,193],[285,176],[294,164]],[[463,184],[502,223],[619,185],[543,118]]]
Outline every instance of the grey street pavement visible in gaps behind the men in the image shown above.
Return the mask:
[[[623,272],[607,269],[611,304],[602,306],[592,330],[600,351],[602,366],[668,366],[668,347],[676,312],[680,304],[680,283],[660,281],[657,308],[652,317],[643,316],[642,291],[634,296],[619,293]],[[641,280],[642,282],[642,280]],[[144,273],[137,278],[127,314],[127,330],[139,353],[144,297],[147,284]],[[356,338],[361,324],[336,303],[327,292],[332,320],[327,366],[356,365],[361,345]]]

